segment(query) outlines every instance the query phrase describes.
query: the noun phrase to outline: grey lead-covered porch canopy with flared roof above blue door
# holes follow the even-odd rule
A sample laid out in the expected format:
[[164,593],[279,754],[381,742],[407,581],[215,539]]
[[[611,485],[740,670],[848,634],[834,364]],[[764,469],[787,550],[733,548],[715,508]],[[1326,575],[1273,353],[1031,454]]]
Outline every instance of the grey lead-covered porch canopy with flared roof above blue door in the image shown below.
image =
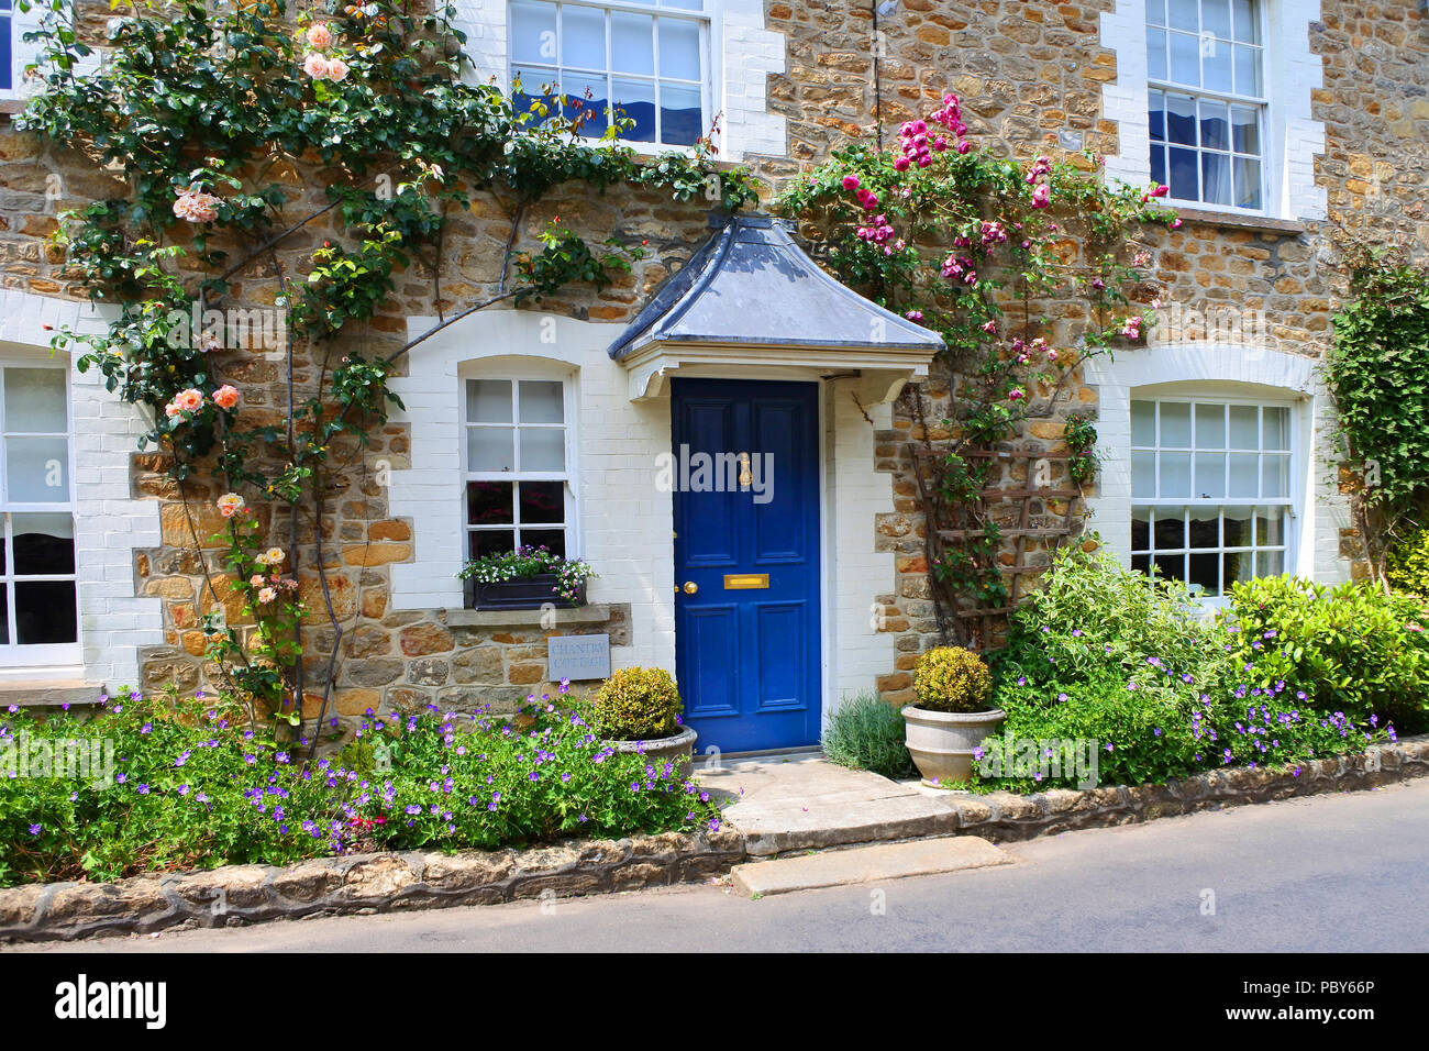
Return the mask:
[[659,398],[670,376],[849,376],[860,400],[897,398],[927,375],[943,339],[825,273],[787,220],[733,216],[656,292],[610,346],[630,400]]

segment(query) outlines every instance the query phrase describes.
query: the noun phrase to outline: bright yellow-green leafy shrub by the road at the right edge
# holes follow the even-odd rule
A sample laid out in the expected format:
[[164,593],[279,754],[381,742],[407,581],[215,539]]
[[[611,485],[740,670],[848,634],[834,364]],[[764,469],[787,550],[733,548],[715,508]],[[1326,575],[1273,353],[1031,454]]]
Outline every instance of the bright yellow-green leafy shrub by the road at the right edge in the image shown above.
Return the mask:
[[1368,583],[1268,578],[1230,589],[1225,628],[1245,676],[1320,712],[1429,726],[1429,639],[1418,599]]

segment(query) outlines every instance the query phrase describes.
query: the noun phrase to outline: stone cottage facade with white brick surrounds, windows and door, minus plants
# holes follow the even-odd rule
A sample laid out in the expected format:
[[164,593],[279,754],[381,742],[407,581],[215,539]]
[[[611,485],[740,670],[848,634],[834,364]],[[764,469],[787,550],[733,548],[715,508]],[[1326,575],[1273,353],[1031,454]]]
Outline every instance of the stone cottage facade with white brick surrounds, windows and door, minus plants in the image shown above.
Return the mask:
[[[457,10],[473,76],[559,76],[649,99],[634,134],[664,146],[689,144],[717,116],[720,157],[770,193],[840,143],[890,142],[945,90],[963,100],[977,142],[1019,157],[1090,149],[1106,156],[1107,177],[1167,183],[1185,222],[1150,235],[1156,280],[1140,290],[1162,303],[1162,325],[1149,346],[1077,376],[1102,458],[1085,518],[1129,565],[1189,579],[1208,603],[1248,575],[1353,573],[1316,365],[1343,293],[1333,232],[1429,250],[1422,0],[460,0]],[[113,184],[10,126],[26,90],[27,17],[0,10],[11,43],[0,70],[0,695],[57,704],[129,684],[194,689],[200,619],[231,595],[204,588],[161,453],[136,452],[143,423],[93,375],[49,355],[53,329],[101,320],[46,237],[60,210]],[[107,17],[107,6],[80,6],[94,39]],[[542,50],[543,33],[570,54]],[[907,699],[912,663],[937,639],[906,452],[926,438],[909,385],[926,419],[946,412],[935,347],[913,335],[905,346],[832,336],[800,346],[793,326],[770,322],[742,336],[746,353],[706,332],[703,343],[666,333],[613,356],[649,327],[657,296],[696,309],[699,289],[670,277],[727,232],[644,190],[572,193],[549,207],[572,226],[646,239],[650,253],[623,285],[480,312],[410,355],[393,382],[406,409],[337,508],[339,716],[427,702],[510,708],[552,688],[547,639],[564,635],[607,636],[614,668],[679,671],[702,735],[726,751],[813,744],[857,692]],[[479,207],[454,224],[447,295],[492,287],[509,229]],[[729,237],[737,250],[785,250],[777,229],[746,233]],[[300,256],[312,243],[290,247]],[[414,279],[372,337],[400,343],[436,315],[430,285]],[[269,405],[280,405],[273,362],[224,367],[247,390],[274,388]],[[779,420],[769,433],[802,436],[785,455],[803,488],[775,505],[777,518],[746,506],[747,492],[684,506],[657,485],[682,436],[723,435],[730,452],[749,452],[760,419]],[[1055,452],[1059,440],[1050,420],[1022,445]],[[56,465],[63,482],[37,485]],[[187,492],[204,536],[214,495],[201,482]],[[510,503],[493,512],[492,499]],[[739,523],[720,533],[735,500],[745,500]],[[26,558],[34,536],[49,538],[43,565]],[[463,559],[514,542],[592,562],[589,603],[466,609]],[[793,573],[785,592],[782,573]],[[299,576],[316,599],[316,582]],[[324,631],[314,618],[319,641]]]

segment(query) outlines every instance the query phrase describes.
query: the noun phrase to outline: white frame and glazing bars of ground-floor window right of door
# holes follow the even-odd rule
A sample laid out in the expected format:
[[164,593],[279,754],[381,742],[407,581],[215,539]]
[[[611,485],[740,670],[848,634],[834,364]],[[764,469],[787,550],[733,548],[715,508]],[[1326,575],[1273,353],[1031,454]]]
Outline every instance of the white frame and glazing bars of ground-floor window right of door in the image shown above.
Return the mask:
[[[1162,553],[1160,549],[1156,548],[1156,509],[1157,508],[1179,508],[1179,509],[1219,508],[1220,513],[1218,515],[1218,522],[1216,522],[1216,528],[1218,528],[1218,543],[1216,543],[1216,546],[1213,546],[1213,548],[1192,548],[1192,546],[1189,546],[1190,545],[1189,532],[1183,531],[1183,533],[1182,533],[1182,536],[1183,536],[1182,546],[1180,548],[1167,548],[1165,551],[1165,553],[1167,553],[1167,555],[1177,555],[1179,553],[1182,556],[1182,575],[1180,575],[1180,579],[1186,579],[1187,583],[1189,583],[1187,578],[1189,578],[1190,555],[1192,553],[1205,553],[1205,555],[1218,555],[1218,556],[1220,556],[1220,555],[1229,555],[1229,553],[1252,553],[1252,552],[1259,553],[1262,551],[1263,552],[1278,551],[1278,552],[1280,552],[1280,573],[1278,573],[1278,575],[1293,573],[1295,572],[1295,565],[1296,565],[1296,556],[1298,556],[1298,549],[1296,548],[1298,548],[1298,539],[1299,539],[1299,532],[1300,532],[1299,531],[1299,519],[1300,519],[1300,508],[1302,508],[1302,503],[1300,503],[1302,495],[1300,495],[1300,490],[1299,490],[1298,479],[1300,478],[1300,473],[1302,473],[1300,458],[1303,455],[1302,449],[1300,449],[1300,440],[1299,440],[1299,428],[1298,428],[1298,418],[1296,418],[1296,403],[1292,402],[1292,400],[1283,400],[1283,399],[1276,399],[1276,398],[1243,398],[1243,396],[1233,396],[1233,395],[1223,395],[1223,393],[1209,393],[1209,392],[1205,393],[1205,395],[1200,395],[1200,393],[1196,393],[1193,390],[1192,392],[1180,392],[1179,390],[1179,392],[1172,393],[1172,395],[1139,393],[1136,389],[1130,390],[1130,402],[1133,405],[1136,402],[1152,402],[1156,406],[1156,433],[1155,433],[1155,445],[1150,445],[1150,446],[1136,445],[1135,439],[1132,439],[1127,443],[1127,462],[1130,462],[1130,459],[1137,452],[1152,452],[1152,453],[1162,452],[1162,450],[1186,452],[1186,453],[1190,455],[1190,465],[1192,465],[1192,475],[1190,475],[1190,478],[1192,478],[1192,482],[1195,483],[1195,462],[1196,462],[1196,453],[1198,452],[1225,452],[1228,455],[1228,463],[1226,463],[1226,472],[1228,472],[1226,473],[1226,482],[1228,482],[1228,485],[1225,486],[1226,488],[1226,493],[1228,493],[1226,496],[1218,496],[1218,498],[1205,498],[1205,496],[1192,496],[1192,498],[1179,498],[1179,496],[1145,498],[1145,496],[1136,496],[1135,493],[1130,496],[1130,502],[1129,502],[1129,506],[1127,506],[1127,515],[1130,516],[1130,522],[1135,523],[1136,510],[1139,508],[1149,508],[1150,509],[1150,518],[1147,520],[1147,545],[1149,546],[1147,548],[1137,548],[1136,543],[1135,543],[1135,539],[1132,541],[1130,548],[1129,548],[1129,556],[1132,559],[1132,565],[1135,566],[1135,561],[1137,558],[1147,558],[1147,562],[1152,563],[1155,561],[1155,555]],[[1186,448],[1183,448],[1183,446],[1165,446],[1163,448],[1160,445],[1160,406],[1166,405],[1166,403],[1189,405],[1190,406],[1190,446],[1186,446]],[[1225,445],[1223,449],[1199,449],[1198,448],[1198,445],[1196,445],[1196,406],[1198,405],[1220,405],[1220,406],[1226,406],[1226,418],[1225,418],[1226,419],[1226,445]],[[1259,496],[1259,495],[1253,496],[1253,498],[1249,498],[1249,496],[1242,498],[1242,496],[1230,496],[1229,495],[1229,490],[1230,490],[1230,488],[1229,488],[1229,455],[1230,453],[1256,453],[1256,456],[1258,456],[1258,460],[1256,460],[1256,478],[1259,480],[1258,483],[1259,483],[1259,486],[1262,489],[1265,486],[1265,456],[1266,456],[1266,448],[1265,448],[1265,413],[1259,412],[1256,415],[1258,448],[1256,449],[1233,448],[1230,445],[1230,432],[1229,432],[1229,406],[1236,406],[1236,405],[1255,406],[1256,409],[1262,409],[1262,410],[1263,409],[1285,409],[1286,410],[1286,443],[1288,443],[1289,449],[1285,453],[1282,453],[1279,450],[1270,450],[1272,455],[1278,455],[1278,456],[1283,455],[1283,458],[1286,460],[1286,495],[1283,498],[1270,498],[1270,496]],[[1130,412],[1133,412],[1133,409],[1129,406],[1129,413]],[[1159,458],[1156,460],[1155,470],[1156,470],[1156,490],[1160,492],[1160,462],[1159,462]],[[1195,492],[1195,488],[1193,488],[1193,492]],[[1250,538],[1250,543],[1249,545],[1230,545],[1230,546],[1228,546],[1225,543],[1225,509],[1226,508],[1250,508],[1252,509],[1252,513],[1250,513],[1252,538]],[[1256,543],[1258,538],[1255,536],[1253,531],[1256,529],[1256,525],[1255,525],[1255,522],[1256,522],[1256,513],[1255,512],[1256,512],[1258,508],[1282,508],[1283,509],[1283,518],[1282,518],[1282,523],[1280,523],[1280,536],[1282,536],[1280,543],[1269,543],[1269,545]],[[1185,522],[1185,512],[1180,515],[1180,518]],[[1132,528],[1132,535],[1135,536],[1135,525]],[[1255,559],[1255,562],[1259,562],[1259,559]],[[1256,572],[1259,569],[1259,566],[1256,566],[1255,562],[1252,565],[1250,578],[1243,578],[1243,579],[1252,579],[1252,578],[1255,578],[1255,576],[1259,575]],[[1216,606],[1223,606],[1228,602],[1228,598],[1226,598],[1226,579],[1225,579],[1225,562],[1223,562],[1223,559],[1218,561],[1218,572],[1219,572],[1219,589],[1220,589],[1220,593],[1219,595],[1199,595],[1198,601],[1202,602],[1202,605],[1216,608]]]

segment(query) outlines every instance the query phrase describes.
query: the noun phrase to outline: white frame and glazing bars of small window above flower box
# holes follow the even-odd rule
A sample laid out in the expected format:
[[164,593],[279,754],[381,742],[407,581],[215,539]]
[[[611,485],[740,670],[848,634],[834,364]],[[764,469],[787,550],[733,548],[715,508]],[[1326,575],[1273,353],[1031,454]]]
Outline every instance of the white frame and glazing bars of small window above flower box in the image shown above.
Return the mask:
[[[480,366],[480,362],[474,363]],[[467,380],[506,380],[512,385],[512,423],[472,423],[467,420]],[[520,462],[520,429],[522,423],[520,412],[520,382],[537,382],[537,383],[560,383],[562,385],[562,413],[564,416],[564,423],[536,423],[524,425],[543,429],[560,428],[566,432],[566,469],[563,472],[554,470],[473,470],[469,462],[469,446],[467,446],[467,432],[473,428],[482,426],[510,426],[513,430],[512,443],[513,455]],[[580,523],[579,523],[579,493],[577,482],[579,465],[577,465],[577,420],[576,420],[576,376],[560,367],[539,367],[533,363],[530,369],[502,369],[502,370],[486,370],[474,367],[472,370],[463,369],[457,382],[462,385],[460,390],[460,446],[462,446],[462,551],[460,561],[466,565],[472,558],[472,533],[474,532],[500,532],[503,529],[510,529],[513,541],[520,546],[520,533],[523,526],[519,523],[520,516],[520,486],[513,488],[512,493],[512,523],[509,526],[499,525],[490,528],[473,526],[469,520],[467,510],[467,482],[563,482],[563,495],[566,502],[564,522],[533,522],[527,529],[532,531],[552,531],[562,529],[566,533],[566,558],[574,559],[580,558]]]

